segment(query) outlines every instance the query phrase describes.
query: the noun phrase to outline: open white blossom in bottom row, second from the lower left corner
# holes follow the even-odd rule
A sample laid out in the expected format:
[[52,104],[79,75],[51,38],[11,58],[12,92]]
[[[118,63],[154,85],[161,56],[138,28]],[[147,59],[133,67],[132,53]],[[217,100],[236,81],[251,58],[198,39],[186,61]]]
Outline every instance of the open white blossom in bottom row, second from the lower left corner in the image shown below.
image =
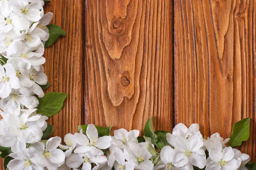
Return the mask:
[[60,137],[50,138],[46,146],[42,142],[36,142],[30,144],[29,147],[34,147],[37,151],[36,161],[47,167],[47,169],[57,169],[59,166],[64,164],[65,154],[62,150],[56,149],[61,143]]

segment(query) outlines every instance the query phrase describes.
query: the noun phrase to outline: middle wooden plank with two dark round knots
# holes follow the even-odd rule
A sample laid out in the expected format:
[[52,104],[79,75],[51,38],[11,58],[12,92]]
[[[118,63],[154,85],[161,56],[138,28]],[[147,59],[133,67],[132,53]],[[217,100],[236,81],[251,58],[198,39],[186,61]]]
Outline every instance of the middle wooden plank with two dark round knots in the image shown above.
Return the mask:
[[173,126],[170,0],[86,0],[86,123]]

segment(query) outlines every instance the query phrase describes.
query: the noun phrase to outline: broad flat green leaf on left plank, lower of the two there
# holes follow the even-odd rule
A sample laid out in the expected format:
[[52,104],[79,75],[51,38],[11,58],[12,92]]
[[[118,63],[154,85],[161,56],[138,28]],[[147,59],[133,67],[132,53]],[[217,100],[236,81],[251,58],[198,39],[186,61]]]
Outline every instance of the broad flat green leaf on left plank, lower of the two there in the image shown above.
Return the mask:
[[59,92],[45,94],[43,98],[38,98],[39,105],[37,107],[37,113],[48,117],[57,114],[61,110],[66,97],[67,94]]

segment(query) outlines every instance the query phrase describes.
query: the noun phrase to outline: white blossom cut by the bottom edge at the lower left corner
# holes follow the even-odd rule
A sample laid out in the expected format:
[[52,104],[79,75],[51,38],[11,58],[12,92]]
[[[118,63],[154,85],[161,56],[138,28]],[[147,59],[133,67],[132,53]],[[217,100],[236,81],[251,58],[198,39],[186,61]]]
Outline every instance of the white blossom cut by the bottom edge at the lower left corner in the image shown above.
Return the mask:
[[7,165],[9,170],[43,170],[35,161],[37,155],[33,147],[23,150],[22,153],[11,153],[9,156],[14,158]]

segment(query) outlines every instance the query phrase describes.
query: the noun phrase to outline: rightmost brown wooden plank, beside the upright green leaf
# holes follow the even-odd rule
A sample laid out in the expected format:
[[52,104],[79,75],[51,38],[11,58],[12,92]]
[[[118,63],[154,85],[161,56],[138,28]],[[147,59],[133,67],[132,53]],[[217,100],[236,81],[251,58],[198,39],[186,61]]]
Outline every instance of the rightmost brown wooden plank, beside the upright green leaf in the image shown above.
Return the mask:
[[230,136],[252,118],[242,151],[256,160],[255,0],[175,0],[175,124]]

